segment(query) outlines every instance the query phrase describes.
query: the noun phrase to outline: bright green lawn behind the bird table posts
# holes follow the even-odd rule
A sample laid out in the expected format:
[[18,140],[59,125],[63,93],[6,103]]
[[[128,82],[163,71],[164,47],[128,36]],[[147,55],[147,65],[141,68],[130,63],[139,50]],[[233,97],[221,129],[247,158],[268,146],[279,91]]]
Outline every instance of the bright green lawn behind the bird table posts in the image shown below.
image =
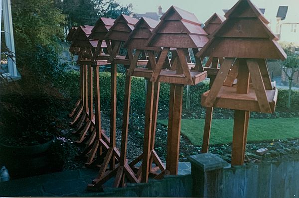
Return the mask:
[[[231,119],[212,120],[210,144],[231,143],[233,139]],[[168,124],[168,120],[158,120]],[[194,145],[202,144],[204,119],[182,119],[181,133]],[[299,117],[277,119],[250,119],[247,141],[299,138]]]

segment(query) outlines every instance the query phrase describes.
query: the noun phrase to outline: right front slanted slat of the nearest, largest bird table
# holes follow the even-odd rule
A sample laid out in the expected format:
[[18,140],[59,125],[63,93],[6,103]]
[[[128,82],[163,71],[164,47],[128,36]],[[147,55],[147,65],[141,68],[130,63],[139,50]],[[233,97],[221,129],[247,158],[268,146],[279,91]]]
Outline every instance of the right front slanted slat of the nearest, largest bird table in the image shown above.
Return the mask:
[[255,92],[256,92],[256,96],[258,99],[261,112],[271,112],[270,104],[266,95],[263,78],[257,61],[247,60],[247,65],[248,65],[248,70],[251,74],[252,83],[255,88]]

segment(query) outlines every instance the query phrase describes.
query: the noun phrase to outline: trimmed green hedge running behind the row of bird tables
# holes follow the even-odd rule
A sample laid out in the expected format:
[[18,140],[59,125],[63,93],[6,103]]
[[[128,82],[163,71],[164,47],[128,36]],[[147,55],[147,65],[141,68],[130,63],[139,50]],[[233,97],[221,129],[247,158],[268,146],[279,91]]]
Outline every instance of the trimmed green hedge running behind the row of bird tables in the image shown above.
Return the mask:
[[[110,85],[111,74],[110,72],[100,72],[100,92],[101,92],[101,105],[110,106]],[[65,95],[71,98],[78,97],[79,95],[79,72],[68,72],[65,79],[61,82],[60,87],[65,91]],[[117,76],[117,105],[122,108],[124,103],[124,90],[125,76],[118,74]],[[161,83],[159,106],[168,107],[169,101],[169,84]],[[201,95],[208,91],[209,81],[201,82],[195,86],[190,86],[190,109],[198,109],[200,107]],[[75,94],[77,93],[77,94]],[[186,99],[186,86],[183,95],[183,108],[185,108]],[[279,90],[277,107],[285,108],[288,99],[288,90]],[[144,78],[132,77],[132,90],[131,90],[131,104],[133,109],[145,109],[146,100],[146,83]],[[292,91],[292,110],[299,110],[299,92]]]

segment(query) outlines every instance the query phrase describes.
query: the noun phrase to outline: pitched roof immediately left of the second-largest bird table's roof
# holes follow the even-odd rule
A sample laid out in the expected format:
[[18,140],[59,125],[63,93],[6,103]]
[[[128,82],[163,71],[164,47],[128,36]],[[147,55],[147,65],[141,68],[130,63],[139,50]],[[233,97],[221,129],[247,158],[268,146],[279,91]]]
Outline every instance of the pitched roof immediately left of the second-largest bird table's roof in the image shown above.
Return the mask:
[[151,36],[152,30],[156,27],[159,21],[152,20],[147,17],[142,17],[135,25],[135,29],[130,33],[129,39],[124,47],[128,49],[153,50],[159,51],[159,47],[147,47],[147,42]]

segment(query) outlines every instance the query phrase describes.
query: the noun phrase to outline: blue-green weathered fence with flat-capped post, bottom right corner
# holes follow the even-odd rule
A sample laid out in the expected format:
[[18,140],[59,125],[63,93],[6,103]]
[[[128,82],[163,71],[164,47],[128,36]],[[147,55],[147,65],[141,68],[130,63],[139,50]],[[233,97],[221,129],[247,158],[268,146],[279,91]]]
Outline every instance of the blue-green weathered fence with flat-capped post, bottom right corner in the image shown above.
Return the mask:
[[230,167],[213,154],[190,156],[193,196],[294,198],[299,195],[299,159]]

